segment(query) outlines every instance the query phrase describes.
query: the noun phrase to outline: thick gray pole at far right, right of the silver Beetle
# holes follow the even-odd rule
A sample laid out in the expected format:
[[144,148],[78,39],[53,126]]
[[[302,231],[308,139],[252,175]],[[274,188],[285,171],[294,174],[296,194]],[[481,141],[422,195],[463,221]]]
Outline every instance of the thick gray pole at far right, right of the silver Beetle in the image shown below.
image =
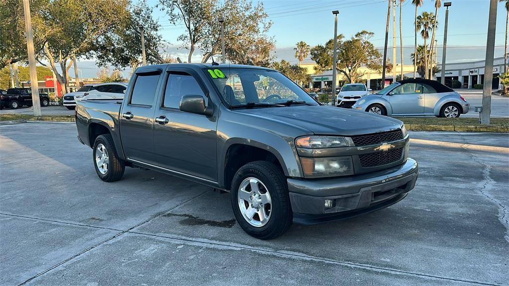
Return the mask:
[[497,0],[490,1],[488,18],[488,39],[486,40],[486,64],[484,67],[483,112],[480,122],[490,125],[491,85],[493,83],[493,55],[495,52],[495,27],[497,20]]

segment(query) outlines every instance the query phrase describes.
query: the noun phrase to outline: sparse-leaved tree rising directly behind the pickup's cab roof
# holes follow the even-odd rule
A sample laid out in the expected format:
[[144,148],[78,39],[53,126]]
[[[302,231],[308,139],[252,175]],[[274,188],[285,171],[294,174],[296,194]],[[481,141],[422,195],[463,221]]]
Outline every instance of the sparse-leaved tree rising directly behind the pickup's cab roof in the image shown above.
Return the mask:
[[202,63],[221,52],[221,23],[224,19],[225,52],[231,62],[267,66],[274,40],[265,34],[272,23],[267,20],[262,3],[251,0],[159,0],[169,22],[184,23],[186,33],[178,37],[189,50],[190,63],[196,49],[204,52]]

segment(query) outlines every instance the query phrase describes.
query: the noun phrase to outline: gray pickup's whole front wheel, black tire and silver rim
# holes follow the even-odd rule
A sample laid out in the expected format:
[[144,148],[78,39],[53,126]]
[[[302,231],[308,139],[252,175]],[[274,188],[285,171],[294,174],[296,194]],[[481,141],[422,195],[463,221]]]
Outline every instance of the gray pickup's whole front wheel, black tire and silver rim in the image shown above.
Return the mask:
[[[253,190],[252,185],[256,185],[258,190]],[[251,196],[253,191],[259,194],[256,199]],[[231,195],[235,218],[252,237],[273,239],[284,234],[292,225],[293,212],[286,177],[271,162],[254,161],[240,167],[232,181]],[[252,208],[257,203],[258,210]],[[249,210],[252,210],[251,213]],[[266,217],[266,221],[262,216]]]

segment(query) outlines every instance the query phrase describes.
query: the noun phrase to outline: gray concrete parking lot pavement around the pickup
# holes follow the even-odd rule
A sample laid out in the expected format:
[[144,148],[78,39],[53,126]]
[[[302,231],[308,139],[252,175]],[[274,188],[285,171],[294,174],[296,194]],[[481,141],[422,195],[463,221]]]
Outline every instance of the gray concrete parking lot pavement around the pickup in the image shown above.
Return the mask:
[[509,284],[509,134],[411,132],[403,201],[271,241],[229,194],[132,168],[102,182],[76,134],[0,126],[1,285]]

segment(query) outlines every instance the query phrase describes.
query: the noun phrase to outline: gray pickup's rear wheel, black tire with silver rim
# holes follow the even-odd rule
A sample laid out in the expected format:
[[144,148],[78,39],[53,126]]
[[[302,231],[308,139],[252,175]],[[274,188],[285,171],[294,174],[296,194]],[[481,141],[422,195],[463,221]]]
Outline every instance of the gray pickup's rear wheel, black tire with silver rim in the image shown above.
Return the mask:
[[[124,176],[125,163],[119,160],[110,134],[99,135],[94,142],[93,162],[97,176],[104,182],[115,182]],[[102,150],[102,151],[101,151]],[[101,159],[106,157],[106,160]]]

